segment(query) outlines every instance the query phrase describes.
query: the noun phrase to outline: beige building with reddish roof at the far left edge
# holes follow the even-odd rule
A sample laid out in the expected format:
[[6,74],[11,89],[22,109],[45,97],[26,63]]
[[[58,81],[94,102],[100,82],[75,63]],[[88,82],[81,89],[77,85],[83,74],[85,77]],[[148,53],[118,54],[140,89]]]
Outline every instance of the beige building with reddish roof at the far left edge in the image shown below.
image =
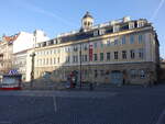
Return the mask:
[[19,35],[2,36],[2,41],[0,42],[0,74],[8,74],[12,69],[13,42]]

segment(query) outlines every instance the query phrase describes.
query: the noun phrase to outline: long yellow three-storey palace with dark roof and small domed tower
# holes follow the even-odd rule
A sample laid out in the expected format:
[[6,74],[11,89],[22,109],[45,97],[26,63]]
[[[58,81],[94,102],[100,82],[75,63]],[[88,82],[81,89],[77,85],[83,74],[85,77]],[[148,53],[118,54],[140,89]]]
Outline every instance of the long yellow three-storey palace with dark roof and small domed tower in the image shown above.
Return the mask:
[[82,82],[145,83],[157,80],[158,40],[145,19],[121,20],[94,25],[87,12],[81,29],[37,44],[34,78],[51,74],[66,81],[77,71]]

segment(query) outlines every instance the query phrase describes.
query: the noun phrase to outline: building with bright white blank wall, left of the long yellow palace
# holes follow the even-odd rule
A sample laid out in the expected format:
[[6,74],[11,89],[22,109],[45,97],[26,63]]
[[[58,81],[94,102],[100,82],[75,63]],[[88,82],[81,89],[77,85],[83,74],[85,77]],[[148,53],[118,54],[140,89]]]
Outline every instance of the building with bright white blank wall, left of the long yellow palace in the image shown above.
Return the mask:
[[13,67],[19,71],[19,74],[22,74],[24,81],[29,81],[29,79],[26,79],[26,75],[29,74],[28,68],[31,68],[26,63],[28,59],[31,59],[28,56],[28,52],[34,49],[37,43],[42,43],[47,40],[50,38],[43,31],[36,30],[34,33],[20,32],[19,37],[13,42]]

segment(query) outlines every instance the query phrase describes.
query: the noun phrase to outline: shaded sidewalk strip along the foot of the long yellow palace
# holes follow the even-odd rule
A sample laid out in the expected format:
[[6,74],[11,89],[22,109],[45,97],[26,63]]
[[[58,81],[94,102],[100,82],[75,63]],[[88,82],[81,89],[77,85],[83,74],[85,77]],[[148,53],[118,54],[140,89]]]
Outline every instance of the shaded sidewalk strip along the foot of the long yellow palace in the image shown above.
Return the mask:
[[[165,84],[162,84],[165,86]],[[153,86],[152,88],[156,89],[157,86]],[[114,86],[110,83],[99,83],[92,84],[92,90],[89,83],[77,84],[76,88],[68,89],[66,88],[66,82],[33,82],[33,87],[31,87],[30,82],[23,83],[23,90],[66,90],[66,91],[122,91],[122,90],[135,90],[135,89],[151,89],[150,87],[144,88],[144,86]]]

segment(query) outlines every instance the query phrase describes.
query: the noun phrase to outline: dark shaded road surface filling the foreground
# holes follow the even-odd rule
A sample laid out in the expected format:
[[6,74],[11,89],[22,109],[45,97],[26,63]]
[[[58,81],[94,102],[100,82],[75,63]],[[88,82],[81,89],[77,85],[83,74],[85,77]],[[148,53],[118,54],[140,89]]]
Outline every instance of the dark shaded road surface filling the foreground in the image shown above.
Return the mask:
[[165,124],[164,112],[165,86],[0,91],[0,124]]

